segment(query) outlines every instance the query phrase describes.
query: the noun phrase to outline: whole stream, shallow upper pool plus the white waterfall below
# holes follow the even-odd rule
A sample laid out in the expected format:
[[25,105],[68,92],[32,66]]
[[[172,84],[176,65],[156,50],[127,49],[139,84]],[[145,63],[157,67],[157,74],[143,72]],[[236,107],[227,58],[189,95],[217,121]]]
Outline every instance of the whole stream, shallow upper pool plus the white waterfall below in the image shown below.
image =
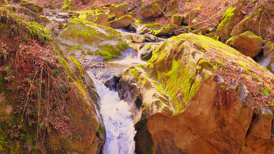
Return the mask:
[[102,153],[131,154],[135,150],[134,136],[136,133],[132,120],[132,109],[127,102],[119,99],[117,91],[109,90],[102,81],[114,75],[122,75],[131,66],[147,64],[147,62],[141,61],[139,54],[132,49],[132,52],[128,52],[124,59],[105,64],[106,68],[88,71],[101,98],[100,112],[106,131],[106,142]]

